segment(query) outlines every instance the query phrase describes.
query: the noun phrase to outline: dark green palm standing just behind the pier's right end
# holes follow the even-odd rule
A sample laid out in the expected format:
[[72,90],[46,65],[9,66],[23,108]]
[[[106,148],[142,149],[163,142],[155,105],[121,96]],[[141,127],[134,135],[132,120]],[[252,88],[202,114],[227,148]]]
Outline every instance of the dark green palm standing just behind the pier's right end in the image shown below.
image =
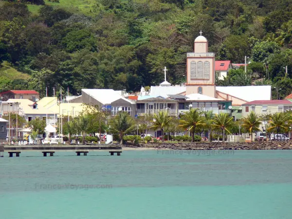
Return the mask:
[[110,120],[110,130],[119,134],[121,140],[120,145],[123,144],[124,135],[133,131],[135,128],[135,122],[127,112],[122,111]]

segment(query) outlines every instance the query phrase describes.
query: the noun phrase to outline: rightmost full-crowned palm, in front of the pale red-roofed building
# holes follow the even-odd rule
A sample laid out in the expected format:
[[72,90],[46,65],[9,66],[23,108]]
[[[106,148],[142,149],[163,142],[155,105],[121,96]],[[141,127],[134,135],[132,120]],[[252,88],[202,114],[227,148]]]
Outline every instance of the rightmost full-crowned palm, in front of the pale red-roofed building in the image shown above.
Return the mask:
[[271,115],[270,121],[268,122],[270,127],[267,128],[268,131],[276,130],[277,134],[281,128],[288,128],[289,115],[282,112],[276,112],[274,115]]

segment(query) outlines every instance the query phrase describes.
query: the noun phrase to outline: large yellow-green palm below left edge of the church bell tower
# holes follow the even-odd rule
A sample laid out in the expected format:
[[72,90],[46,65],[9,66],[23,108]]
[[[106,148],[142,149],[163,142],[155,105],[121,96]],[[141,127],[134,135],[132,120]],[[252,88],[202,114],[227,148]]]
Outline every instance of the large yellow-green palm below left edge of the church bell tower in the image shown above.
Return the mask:
[[183,119],[180,121],[181,127],[188,128],[192,133],[192,142],[194,142],[195,128],[203,125],[204,118],[198,109],[191,109],[183,115]]

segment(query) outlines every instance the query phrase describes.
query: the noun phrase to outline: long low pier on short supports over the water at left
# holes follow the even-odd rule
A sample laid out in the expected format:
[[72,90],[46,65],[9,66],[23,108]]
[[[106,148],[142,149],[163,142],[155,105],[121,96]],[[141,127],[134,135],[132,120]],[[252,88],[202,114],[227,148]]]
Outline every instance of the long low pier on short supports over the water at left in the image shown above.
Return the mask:
[[54,156],[55,152],[65,151],[65,152],[75,152],[77,156],[83,154],[87,156],[87,154],[91,151],[103,151],[109,152],[110,155],[117,154],[120,156],[123,152],[121,146],[98,146],[98,145],[55,145],[55,146],[44,146],[44,145],[23,145],[23,146],[0,146],[0,155],[1,152],[8,152],[9,157],[13,157],[13,154],[16,154],[16,157],[19,157],[19,154],[23,151],[34,151],[41,152],[44,157],[47,157],[47,154],[50,154],[50,157]]

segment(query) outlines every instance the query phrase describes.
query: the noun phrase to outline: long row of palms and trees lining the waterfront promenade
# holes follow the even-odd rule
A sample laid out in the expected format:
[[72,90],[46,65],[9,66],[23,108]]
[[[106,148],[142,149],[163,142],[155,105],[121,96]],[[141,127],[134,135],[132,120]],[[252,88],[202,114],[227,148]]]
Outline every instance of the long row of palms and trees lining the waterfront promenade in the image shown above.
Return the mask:
[[[203,131],[208,132],[208,139],[211,140],[212,133],[222,134],[223,141],[225,134],[238,133],[238,126],[241,126],[239,132],[250,133],[260,130],[262,122],[268,132],[284,133],[291,130],[292,113],[277,112],[273,115],[259,116],[254,111],[250,112],[240,121],[234,119],[228,113],[213,114],[212,111],[201,111],[199,109],[190,109],[181,118],[170,116],[167,111],[160,111],[153,115],[143,115],[138,119],[133,119],[127,112],[120,112],[106,122],[107,117],[102,113],[88,113],[67,122],[66,132],[69,135],[69,142],[72,134],[78,132],[83,136],[90,133],[102,133],[104,131],[117,134],[120,144],[123,143],[123,137],[126,134],[134,133],[136,130],[145,133],[147,130],[161,130],[161,135],[165,133],[175,133],[187,130],[194,141],[195,135],[201,135]],[[107,125],[106,125],[107,124]],[[253,139],[251,139],[253,140]],[[164,137],[162,138],[164,141]]]

